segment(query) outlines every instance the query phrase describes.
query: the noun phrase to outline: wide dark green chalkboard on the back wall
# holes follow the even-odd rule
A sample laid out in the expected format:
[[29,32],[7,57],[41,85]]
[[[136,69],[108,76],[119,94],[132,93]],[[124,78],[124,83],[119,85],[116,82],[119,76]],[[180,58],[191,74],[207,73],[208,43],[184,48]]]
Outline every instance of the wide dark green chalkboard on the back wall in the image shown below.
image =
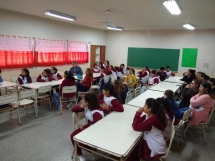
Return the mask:
[[180,49],[157,48],[128,48],[127,66],[148,66],[151,69],[160,69],[169,65],[172,71],[178,71]]

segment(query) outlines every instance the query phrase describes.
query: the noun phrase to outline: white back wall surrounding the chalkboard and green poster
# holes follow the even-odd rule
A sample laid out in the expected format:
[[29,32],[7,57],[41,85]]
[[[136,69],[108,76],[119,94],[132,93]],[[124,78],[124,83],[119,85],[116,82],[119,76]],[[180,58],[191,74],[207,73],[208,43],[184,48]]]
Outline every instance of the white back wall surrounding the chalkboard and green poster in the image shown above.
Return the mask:
[[[151,33],[159,34],[150,36],[145,33],[146,31],[108,31],[106,59],[114,65],[127,64],[128,47],[180,49],[178,72],[182,73],[188,69],[181,67],[182,49],[198,48],[195,70],[206,72],[211,76],[215,75],[215,30],[154,30]],[[204,68],[204,63],[209,63],[209,67]]]

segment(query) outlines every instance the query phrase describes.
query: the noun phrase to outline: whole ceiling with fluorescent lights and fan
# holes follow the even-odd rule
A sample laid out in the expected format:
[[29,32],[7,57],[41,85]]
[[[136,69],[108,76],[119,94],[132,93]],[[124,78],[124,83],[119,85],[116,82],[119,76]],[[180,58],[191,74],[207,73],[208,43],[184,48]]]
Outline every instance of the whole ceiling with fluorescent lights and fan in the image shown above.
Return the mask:
[[[0,8],[106,30],[106,10],[111,22],[125,30],[174,30],[190,23],[196,29],[215,29],[215,0],[177,0],[182,13],[173,16],[162,4],[164,0],[0,0]],[[68,22],[45,15],[54,10],[77,21]],[[114,24],[114,23],[113,23]]]

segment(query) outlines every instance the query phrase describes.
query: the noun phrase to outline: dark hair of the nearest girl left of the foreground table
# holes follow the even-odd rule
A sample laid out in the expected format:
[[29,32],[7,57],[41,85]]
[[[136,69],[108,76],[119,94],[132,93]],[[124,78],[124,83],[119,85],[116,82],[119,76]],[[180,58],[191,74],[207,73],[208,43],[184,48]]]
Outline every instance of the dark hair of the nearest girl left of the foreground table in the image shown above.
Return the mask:
[[91,110],[94,110],[100,107],[99,100],[94,93],[87,93],[85,95],[85,101],[88,102],[88,107]]

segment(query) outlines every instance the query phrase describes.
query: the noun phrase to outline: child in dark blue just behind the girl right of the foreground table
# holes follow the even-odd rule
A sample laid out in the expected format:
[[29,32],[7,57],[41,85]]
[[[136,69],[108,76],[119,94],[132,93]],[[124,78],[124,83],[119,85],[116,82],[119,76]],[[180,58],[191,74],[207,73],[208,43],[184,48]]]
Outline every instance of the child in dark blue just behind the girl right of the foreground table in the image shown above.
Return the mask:
[[174,125],[177,125],[181,120],[181,115],[180,115],[178,105],[173,100],[173,91],[172,90],[166,90],[164,92],[164,98],[167,99],[169,104],[170,104],[170,107],[173,111],[173,115],[175,116]]

